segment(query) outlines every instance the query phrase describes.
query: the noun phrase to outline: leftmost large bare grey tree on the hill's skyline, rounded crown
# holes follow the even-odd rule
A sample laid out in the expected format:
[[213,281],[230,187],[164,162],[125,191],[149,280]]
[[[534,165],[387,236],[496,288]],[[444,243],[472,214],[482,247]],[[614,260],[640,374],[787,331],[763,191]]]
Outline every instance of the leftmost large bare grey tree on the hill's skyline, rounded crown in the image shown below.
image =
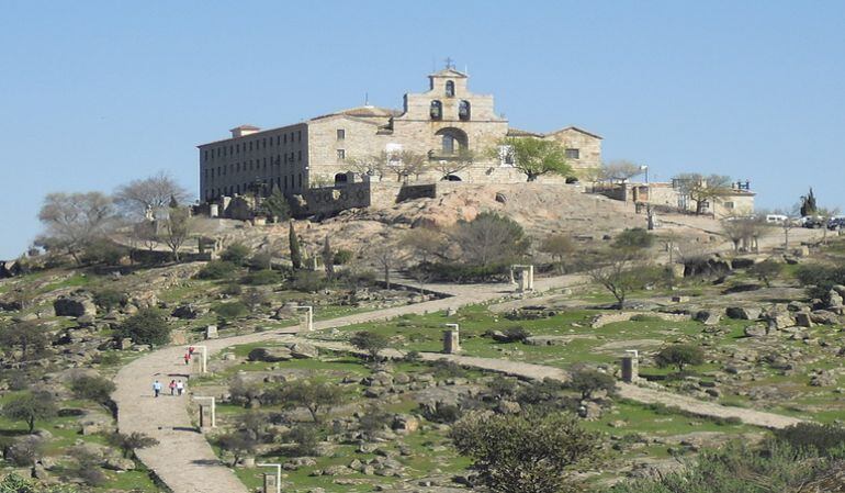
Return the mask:
[[67,251],[79,262],[79,253],[114,226],[112,201],[100,192],[49,193],[38,212],[46,226],[40,243]]

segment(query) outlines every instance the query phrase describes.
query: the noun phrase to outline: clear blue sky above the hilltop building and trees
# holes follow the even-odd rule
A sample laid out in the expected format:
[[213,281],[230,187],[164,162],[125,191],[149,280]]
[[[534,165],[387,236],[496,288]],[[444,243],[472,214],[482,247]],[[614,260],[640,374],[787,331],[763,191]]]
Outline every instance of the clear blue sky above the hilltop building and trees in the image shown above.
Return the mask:
[[750,179],[764,206],[845,205],[845,2],[0,3],[0,258],[50,191],[112,191],[195,145],[361,104],[447,57],[512,126],[577,125],[652,179]]

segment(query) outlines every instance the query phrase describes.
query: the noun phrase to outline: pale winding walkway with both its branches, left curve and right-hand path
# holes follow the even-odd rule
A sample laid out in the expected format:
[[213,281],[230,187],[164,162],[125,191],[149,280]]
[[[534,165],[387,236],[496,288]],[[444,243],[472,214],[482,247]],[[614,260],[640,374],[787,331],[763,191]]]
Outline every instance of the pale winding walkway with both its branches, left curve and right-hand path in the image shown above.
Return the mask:
[[[575,285],[584,281],[581,276],[562,276],[541,279],[536,282],[538,292],[550,289]],[[397,306],[374,312],[360,313],[329,321],[314,323],[314,329],[327,329],[364,322],[384,321],[404,314],[422,314],[449,307],[457,309],[466,304],[500,300],[512,292],[509,284],[477,285],[430,285],[430,289],[452,294],[451,298]],[[249,343],[290,338],[300,332],[292,326],[281,330],[248,334],[224,339],[206,340],[209,355],[222,349]],[[315,344],[314,340],[309,340]],[[317,343],[324,347],[338,343]],[[246,486],[226,464],[222,463],[205,437],[198,433],[188,412],[187,400],[190,395],[165,395],[154,399],[151,384],[159,380],[162,385],[172,379],[185,380],[191,367],[183,365],[183,347],[167,347],[128,363],[115,377],[113,399],[117,403],[117,426],[122,433],[139,432],[156,438],[159,445],[138,450],[138,458],[174,493],[247,493]],[[540,365],[530,365],[493,358],[476,358],[457,355],[424,354],[425,359],[452,359],[461,365],[499,371],[531,379],[565,379],[565,371]],[[696,414],[731,417],[745,423],[765,427],[786,427],[798,419],[758,411],[726,407],[707,403],[669,392],[655,391],[635,385],[622,384],[623,397],[645,402],[677,406]]]

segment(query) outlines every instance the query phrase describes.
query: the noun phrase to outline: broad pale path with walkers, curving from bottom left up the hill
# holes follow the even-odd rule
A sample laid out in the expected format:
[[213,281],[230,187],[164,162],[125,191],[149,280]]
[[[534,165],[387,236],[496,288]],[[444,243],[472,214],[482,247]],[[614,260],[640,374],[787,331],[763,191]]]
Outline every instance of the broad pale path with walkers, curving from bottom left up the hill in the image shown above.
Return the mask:
[[[538,292],[582,282],[577,276],[542,279],[536,282]],[[499,300],[512,294],[514,287],[504,284],[436,285],[452,298],[380,310],[314,323],[314,329],[394,318],[404,314],[422,314],[463,305]],[[207,340],[213,355],[227,346],[271,340],[298,330],[292,326],[282,330],[248,334],[239,337]],[[192,370],[181,357],[183,347],[167,347],[136,359],[121,369],[114,379],[117,390],[117,426],[122,433],[140,432],[156,438],[159,445],[138,451],[138,458],[174,493],[246,493],[232,470],[217,460],[205,437],[195,430],[188,413],[188,394],[181,397],[153,397],[151,385],[158,379],[165,388],[172,379],[185,380]]]

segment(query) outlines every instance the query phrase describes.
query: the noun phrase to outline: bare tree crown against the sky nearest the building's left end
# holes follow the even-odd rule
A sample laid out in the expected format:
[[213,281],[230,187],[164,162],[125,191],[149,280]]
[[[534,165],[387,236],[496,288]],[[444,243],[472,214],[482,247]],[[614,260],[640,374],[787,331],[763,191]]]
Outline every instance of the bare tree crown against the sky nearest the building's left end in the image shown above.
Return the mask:
[[156,213],[168,206],[171,200],[184,203],[191,194],[176,182],[165,171],[145,178],[133,180],[117,187],[114,191],[114,203],[127,216],[144,217],[147,211]]

